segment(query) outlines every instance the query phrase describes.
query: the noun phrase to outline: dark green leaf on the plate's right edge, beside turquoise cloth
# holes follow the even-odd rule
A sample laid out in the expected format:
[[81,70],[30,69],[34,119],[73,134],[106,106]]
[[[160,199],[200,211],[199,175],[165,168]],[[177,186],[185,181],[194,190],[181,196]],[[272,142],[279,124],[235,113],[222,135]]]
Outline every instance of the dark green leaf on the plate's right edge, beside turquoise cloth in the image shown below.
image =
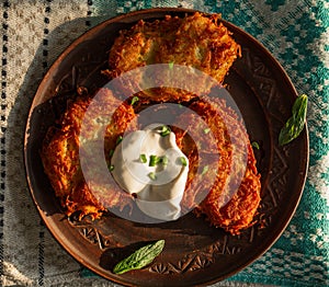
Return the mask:
[[285,123],[279,135],[279,145],[284,146],[299,136],[302,133],[307,112],[307,95],[299,95],[292,108],[292,117]]

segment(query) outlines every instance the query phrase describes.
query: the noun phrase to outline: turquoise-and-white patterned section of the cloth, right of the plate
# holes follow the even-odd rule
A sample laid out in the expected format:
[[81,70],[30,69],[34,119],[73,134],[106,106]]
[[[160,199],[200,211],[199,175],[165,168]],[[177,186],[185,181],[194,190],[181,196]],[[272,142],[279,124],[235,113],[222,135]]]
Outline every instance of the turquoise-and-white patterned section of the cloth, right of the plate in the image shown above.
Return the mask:
[[[329,2],[106,1],[91,16],[178,7],[219,12],[260,41],[282,64],[298,93],[309,96],[309,171],[302,202],[280,240],[257,262],[227,279],[277,286],[329,285]],[[90,275],[88,272],[83,276]]]

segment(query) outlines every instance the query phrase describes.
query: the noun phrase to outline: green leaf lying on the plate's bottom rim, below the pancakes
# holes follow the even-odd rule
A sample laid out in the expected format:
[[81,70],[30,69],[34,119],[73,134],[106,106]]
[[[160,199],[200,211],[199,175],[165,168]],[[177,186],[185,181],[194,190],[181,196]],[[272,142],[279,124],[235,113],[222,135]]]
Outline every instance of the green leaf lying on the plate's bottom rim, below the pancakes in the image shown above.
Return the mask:
[[164,248],[164,240],[158,240],[155,243],[147,244],[138,249],[132,255],[118,262],[113,269],[115,274],[123,274],[133,269],[140,269],[150,264]]

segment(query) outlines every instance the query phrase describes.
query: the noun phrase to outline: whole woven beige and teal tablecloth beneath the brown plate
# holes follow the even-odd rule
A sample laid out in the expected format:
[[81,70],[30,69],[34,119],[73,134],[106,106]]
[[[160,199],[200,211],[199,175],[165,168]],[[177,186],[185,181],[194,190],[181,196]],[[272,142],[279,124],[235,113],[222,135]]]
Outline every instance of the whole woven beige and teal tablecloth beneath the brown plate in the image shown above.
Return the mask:
[[219,12],[253,35],[309,96],[309,171],[302,202],[276,243],[215,286],[329,286],[328,0],[1,0],[0,286],[111,286],[56,242],[23,172],[29,108],[65,48],[98,23],[156,7]]

